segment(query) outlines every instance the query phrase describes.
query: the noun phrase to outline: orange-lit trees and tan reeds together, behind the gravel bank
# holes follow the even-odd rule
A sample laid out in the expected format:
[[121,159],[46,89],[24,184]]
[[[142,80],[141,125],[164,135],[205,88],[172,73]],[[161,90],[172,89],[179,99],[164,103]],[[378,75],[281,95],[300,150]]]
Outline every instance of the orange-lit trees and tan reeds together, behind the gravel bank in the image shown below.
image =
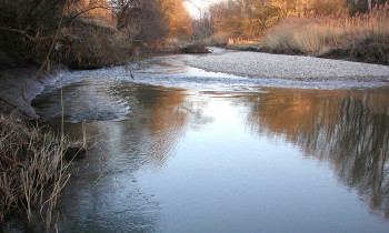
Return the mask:
[[388,0],[228,0],[211,4],[194,32],[212,32],[209,44],[226,44],[211,40],[225,34],[230,49],[389,64],[388,13]]

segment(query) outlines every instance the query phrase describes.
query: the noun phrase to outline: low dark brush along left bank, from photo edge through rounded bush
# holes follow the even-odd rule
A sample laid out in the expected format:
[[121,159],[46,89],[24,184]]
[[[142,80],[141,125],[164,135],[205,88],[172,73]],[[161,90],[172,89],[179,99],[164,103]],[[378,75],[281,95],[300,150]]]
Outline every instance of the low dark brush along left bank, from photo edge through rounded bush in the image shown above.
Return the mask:
[[0,39],[0,62],[4,68],[49,65],[50,62],[72,69],[102,68],[124,63],[134,49],[124,32],[81,19],[44,39],[26,40],[19,33],[7,31]]

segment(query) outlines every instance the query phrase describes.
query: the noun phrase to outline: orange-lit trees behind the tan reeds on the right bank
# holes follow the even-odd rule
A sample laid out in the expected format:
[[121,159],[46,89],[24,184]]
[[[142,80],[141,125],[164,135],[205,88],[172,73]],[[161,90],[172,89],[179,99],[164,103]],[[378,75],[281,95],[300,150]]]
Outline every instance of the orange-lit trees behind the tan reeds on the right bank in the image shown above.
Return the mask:
[[388,0],[225,0],[193,21],[194,37],[215,33],[259,37],[287,18],[340,17],[366,13]]

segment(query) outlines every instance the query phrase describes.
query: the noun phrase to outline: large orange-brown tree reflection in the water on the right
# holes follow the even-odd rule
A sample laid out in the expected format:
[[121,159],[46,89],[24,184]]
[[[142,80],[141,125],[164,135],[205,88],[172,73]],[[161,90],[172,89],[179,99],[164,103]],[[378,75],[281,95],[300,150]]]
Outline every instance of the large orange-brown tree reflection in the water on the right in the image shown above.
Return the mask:
[[370,211],[389,217],[389,95],[373,91],[268,90],[247,97],[250,129],[329,161]]

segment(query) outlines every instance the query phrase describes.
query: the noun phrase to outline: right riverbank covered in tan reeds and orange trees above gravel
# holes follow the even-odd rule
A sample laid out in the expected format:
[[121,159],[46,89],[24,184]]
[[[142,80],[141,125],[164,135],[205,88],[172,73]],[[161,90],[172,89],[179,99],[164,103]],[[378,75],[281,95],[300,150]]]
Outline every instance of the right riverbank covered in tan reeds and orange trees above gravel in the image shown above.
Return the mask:
[[[231,6],[219,8],[233,11]],[[260,17],[261,13],[251,14],[249,11],[242,14],[245,17],[238,17],[240,23],[236,24],[228,22],[229,18],[219,16],[217,19],[213,16],[218,30],[203,41],[208,45],[222,45],[241,51],[389,65],[389,3],[376,2],[370,9],[365,4],[365,10],[352,10],[341,1],[317,1],[309,7],[296,7],[305,11],[299,13],[290,12],[291,9],[265,13],[267,10],[263,9],[263,16]],[[229,14],[231,11],[228,11]]]

